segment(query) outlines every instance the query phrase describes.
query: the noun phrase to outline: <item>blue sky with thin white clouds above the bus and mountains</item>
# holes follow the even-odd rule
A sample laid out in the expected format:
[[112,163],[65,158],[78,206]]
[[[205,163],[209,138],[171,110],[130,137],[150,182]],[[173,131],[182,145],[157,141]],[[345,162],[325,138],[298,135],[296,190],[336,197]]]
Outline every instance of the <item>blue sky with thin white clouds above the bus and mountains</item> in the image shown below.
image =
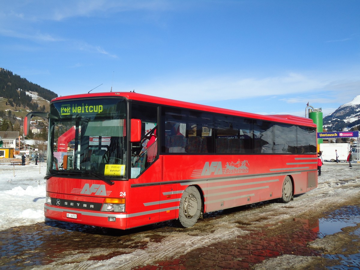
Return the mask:
[[59,96],[325,116],[360,94],[360,1],[3,1],[0,67]]

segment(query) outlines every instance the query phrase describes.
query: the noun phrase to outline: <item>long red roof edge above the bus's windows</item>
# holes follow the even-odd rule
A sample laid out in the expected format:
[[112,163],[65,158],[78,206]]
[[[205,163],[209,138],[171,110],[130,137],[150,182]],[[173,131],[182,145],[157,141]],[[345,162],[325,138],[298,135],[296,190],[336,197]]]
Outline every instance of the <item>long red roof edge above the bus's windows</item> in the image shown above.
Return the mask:
[[127,100],[137,100],[141,102],[149,102],[154,104],[167,105],[172,107],[180,107],[186,109],[195,109],[199,111],[213,112],[213,113],[221,113],[221,114],[230,114],[234,116],[241,116],[247,118],[255,118],[261,119],[265,121],[276,121],[282,123],[291,123],[294,125],[305,125],[310,127],[316,127],[316,124],[312,119],[294,116],[290,114],[269,114],[262,115],[256,113],[247,113],[242,111],[235,111],[231,109],[224,109],[218,107],[212,107],[208,105],[201,105],[191,102],[184,102],[174,99],[167,98],[159,98],[157,96],[139,94],[135,92],[103,92],[103,93],[87,93],[87,94],[78,94],[78,95],[69,95],[69,96],[60,96],[58,98],[54,98],[51,102],[57,102],[60,100],[68,100],[68,99],[84,99],[84,98],[104,98],[104,97],[122,97]]

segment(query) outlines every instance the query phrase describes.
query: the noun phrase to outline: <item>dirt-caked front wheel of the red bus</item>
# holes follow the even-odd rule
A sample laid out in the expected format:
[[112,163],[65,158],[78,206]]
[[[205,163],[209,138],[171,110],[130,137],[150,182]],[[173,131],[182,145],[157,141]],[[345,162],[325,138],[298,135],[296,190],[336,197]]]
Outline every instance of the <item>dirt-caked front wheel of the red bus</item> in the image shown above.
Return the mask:
[[199,190],[188,186],[180,199],[177,225],[182,228],[192,227],[201,215],[202,201]]

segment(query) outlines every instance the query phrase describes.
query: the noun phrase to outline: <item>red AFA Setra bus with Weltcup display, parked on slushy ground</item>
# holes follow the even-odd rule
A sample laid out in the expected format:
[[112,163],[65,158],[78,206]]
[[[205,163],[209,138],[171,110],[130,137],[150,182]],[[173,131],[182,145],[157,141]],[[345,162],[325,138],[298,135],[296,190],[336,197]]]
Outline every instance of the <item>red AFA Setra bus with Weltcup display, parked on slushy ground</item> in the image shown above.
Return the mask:
[[316,125],[138,93],[55,98],[45,217],[129,229],[293,195],[318,185]]

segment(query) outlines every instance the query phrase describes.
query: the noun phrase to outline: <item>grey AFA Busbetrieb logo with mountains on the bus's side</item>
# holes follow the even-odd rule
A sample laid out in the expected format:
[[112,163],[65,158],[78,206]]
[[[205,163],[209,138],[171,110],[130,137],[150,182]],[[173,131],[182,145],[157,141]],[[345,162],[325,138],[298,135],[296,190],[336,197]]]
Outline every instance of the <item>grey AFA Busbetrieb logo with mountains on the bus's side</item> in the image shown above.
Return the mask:
[[[249,172],[249,162],[247,160],[238,162],[226,162],[225,168],[221,161],[205,162],[201,171],[201,176],[222,175],[222,174],[244,174]],[[193,173],[193,176],[194,173]]]

